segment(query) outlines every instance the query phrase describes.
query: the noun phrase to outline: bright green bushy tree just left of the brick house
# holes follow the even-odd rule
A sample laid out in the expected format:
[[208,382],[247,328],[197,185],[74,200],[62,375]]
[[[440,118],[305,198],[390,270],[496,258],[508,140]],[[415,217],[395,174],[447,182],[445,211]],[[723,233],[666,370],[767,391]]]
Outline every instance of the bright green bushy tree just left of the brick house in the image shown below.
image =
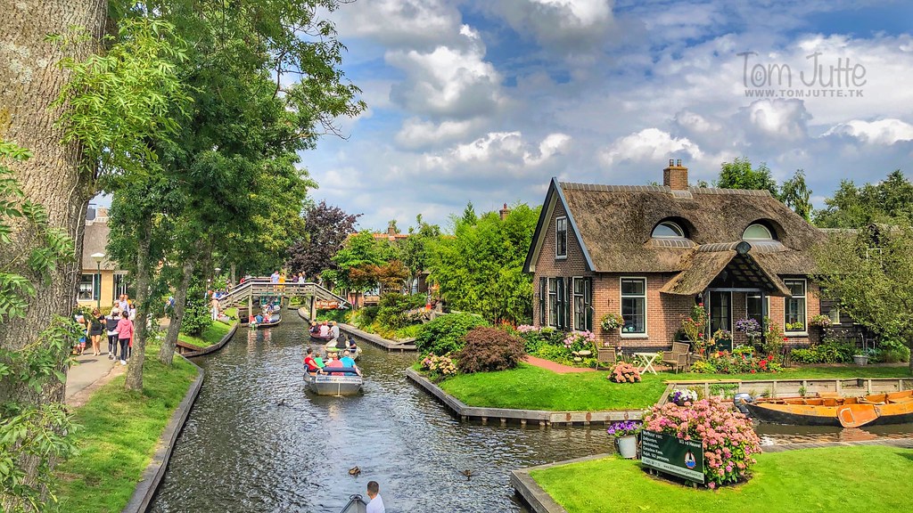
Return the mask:
[[431,279],[452,309],[491,322],[529,322],[531,277],[522,272],[539,210],[513,207],[506,219],[489,212],[468,224],[458,219],[455,237],[434,246]]

